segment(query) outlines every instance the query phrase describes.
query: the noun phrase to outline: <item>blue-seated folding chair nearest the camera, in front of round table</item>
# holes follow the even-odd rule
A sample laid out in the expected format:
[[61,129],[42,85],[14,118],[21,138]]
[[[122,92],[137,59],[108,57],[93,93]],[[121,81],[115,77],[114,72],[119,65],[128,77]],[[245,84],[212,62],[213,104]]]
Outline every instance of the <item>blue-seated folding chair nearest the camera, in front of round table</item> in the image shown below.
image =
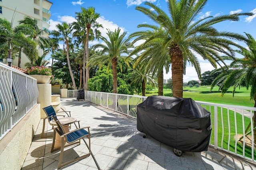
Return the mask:
[[[59,163],[58,163],[58,169],[63,166],[66,166],[68,164],[71,164],[72,162],[76,162],[78,160],[81,160],[81,159],[84,159],[84,158],[87,158],[88,156],[90,156],[90,154],[91,154],[91,140],[90,140],[91,134],[90,134],[90,129],[89,129],[90,127],[81,127],[81,128],[79,127],[78,129],[75,129],[73,131],[65,132],[60,121],[58,119],[56,119],[56,117],[54,117],[54,116],[52,116],[52,119],[54,119],[54,121],[56,121],[56,124],[58,126],[58,128],[54,128],[54,135],[53,135],[52,149],[51,149],[51,152],[54,152],[55,150],[60,149],[60,158],[59,158]],[[84,130],[86,128],[87,128],[87,131]],[[56,132],[60,135],[61,146],[60,146],[60,148],[54,149]],[[84,140],[85,137],[89,139],[89,145],[86,144],[86,141]],[[71,145],[76,145],[76,144],[80,145],[81,139],[83,139],[84,143],[88,146],[89,152],[83,156],[79,156],[78,158],[76,158],[74,160],[70,160],[70,161],[62,164],[64,148],[69,147]],[[65,145],[65,143],[67,143],[67,144]]]

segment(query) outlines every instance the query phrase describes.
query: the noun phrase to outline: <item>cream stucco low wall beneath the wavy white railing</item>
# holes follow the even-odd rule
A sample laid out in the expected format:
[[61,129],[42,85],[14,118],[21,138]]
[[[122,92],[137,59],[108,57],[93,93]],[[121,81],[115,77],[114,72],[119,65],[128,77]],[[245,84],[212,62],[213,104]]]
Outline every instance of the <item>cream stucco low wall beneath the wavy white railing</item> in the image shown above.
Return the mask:
[[20,170],[40,122],[40,104],[0,141],[0,169]]

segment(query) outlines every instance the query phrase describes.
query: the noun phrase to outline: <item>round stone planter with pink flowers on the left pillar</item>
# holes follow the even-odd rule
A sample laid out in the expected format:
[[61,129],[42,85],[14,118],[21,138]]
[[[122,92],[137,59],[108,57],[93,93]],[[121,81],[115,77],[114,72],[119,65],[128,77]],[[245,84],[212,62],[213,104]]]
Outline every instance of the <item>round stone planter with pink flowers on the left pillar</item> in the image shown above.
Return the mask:
[[52,78],[52,69],[46,66],[33,66],[28,69],[28,75],[36,78],[37,83],[47,83]]

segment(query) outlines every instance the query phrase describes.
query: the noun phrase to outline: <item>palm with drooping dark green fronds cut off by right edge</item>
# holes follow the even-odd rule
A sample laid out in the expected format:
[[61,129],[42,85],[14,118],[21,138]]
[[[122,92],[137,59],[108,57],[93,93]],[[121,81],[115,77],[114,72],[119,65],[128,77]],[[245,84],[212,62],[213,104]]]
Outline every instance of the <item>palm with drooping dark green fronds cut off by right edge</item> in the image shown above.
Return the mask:
[[[237,87],[240,88],[245,82],[247,90],[250,88],[250,99],[254,100],[254,107],[256,107],[256,40],[252,35],[245,33],[248,37],[248,49],[241,48],[235,50],[237,53],[244,56],[244,58],[235,58],[228,71],[222,72],[212,82],[210,90],[221,82],[220,89],[224,95],[230,86],[233,86],[233,96]],[[256,127],[256,111],[254,111],[253,124]],[[254,129],[254,142],[256,142],[256,129]]]

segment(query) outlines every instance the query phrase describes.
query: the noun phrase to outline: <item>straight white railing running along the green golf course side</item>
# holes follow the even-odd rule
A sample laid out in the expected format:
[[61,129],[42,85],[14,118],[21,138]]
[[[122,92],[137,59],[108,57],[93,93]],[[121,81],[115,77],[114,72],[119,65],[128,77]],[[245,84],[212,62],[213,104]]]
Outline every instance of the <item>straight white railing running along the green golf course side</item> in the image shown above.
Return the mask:
[[[77,90],[68,91],[68,97],[77,96]],[[85,100],[136,118],[136,106],[146,100],[146,97],[85,91]],[[256,162],[256,151],[252,147],[254,146],[254,134],[251,133],[252,117],[256,108],[196,102],[211,113],[210,145],[215,149]]]

